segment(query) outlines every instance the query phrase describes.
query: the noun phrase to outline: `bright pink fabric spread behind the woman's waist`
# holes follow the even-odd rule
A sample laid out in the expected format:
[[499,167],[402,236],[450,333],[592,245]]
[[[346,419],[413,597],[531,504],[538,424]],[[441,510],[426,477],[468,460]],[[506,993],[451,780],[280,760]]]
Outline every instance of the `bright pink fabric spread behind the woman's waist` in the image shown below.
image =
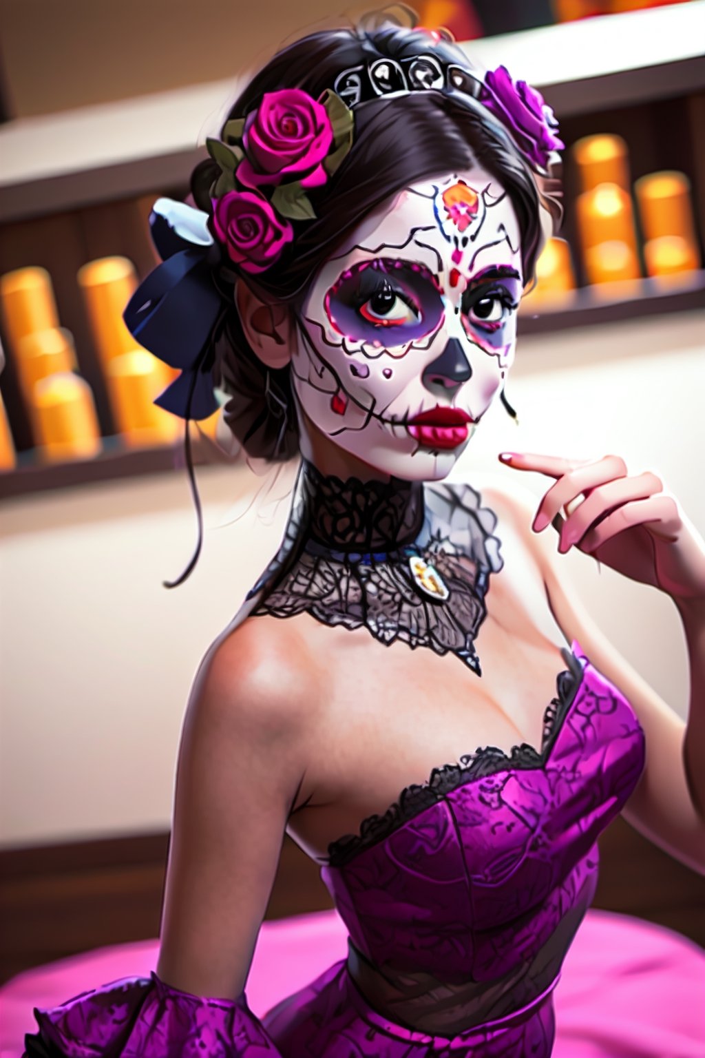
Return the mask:
[[[247,981],[251,1009],[266,1024],[267,1011],[347,950],[335,911],[264,923]],[[36,1029],[35,1006],[147,978],[156,954],[156,941],[116,945],[19,974],[0,989],[0,1058],[20,1058],[24,1034]],[[705,953],[670,930],[589,911],[553,995],[553,1058],[705,1058]],[[355,1017],[378,1020],[359,1001]]]

